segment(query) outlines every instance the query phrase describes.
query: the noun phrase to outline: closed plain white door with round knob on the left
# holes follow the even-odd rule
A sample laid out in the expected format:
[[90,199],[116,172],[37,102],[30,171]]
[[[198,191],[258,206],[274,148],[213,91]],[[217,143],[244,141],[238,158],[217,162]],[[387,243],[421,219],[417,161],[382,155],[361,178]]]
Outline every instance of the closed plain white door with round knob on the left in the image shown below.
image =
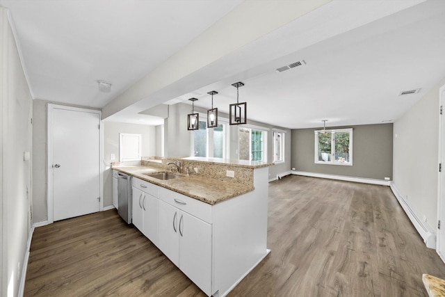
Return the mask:
[[49,222],[97,212],[101,200],[100,113],[53,105],[48,111]]

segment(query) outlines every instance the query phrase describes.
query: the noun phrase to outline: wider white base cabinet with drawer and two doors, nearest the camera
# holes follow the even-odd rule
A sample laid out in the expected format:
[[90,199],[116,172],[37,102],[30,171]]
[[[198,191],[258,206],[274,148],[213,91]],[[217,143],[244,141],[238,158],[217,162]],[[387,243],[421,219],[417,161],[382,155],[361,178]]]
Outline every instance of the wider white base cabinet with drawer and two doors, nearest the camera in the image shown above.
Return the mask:
[[[171,192],[171,193],[169,193]],[[188,214],[188,202],[193,198],[161,189],[163,194],[177,195],[177,206],[159,201],[159,249],[190,278],[204,293],[211,295],[211,224]],[[173,198],[172,201],[175,201]],[[204,203],[204,202],[200,202]]]

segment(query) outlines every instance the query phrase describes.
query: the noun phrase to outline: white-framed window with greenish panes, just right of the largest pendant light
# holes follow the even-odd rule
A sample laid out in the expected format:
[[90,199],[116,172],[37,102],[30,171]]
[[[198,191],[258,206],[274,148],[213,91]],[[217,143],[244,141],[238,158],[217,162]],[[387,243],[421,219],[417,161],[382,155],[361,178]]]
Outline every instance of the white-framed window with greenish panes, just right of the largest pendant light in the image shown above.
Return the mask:
[[267,132],[240,127],[238,133],[239,159],[266,162]]

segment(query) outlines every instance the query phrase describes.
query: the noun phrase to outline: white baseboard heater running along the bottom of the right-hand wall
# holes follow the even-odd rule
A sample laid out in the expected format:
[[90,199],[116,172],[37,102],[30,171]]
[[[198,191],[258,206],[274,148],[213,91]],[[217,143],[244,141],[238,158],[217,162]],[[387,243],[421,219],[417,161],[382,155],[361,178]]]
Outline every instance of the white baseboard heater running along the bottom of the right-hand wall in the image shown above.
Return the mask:
[[403,199],[403,195],[401,195],[393,182],[391,182],[389,186],[391,187],[391,191],[392,193],[394,193],[394,196],[396,196],[398,203],[401,204],[403,211],[405,211],[405,214],[408,216],[408,218],[410,218],[412,225],[414,225],[417,232],[419,232],[419,235],[422,237],[423,242],[426,244],[426,247],[435,249],[435,231],[432,230],[432,227],[428,223],[423,222],[423,220],[419,218],[414,209],[410,207],[410,202]]

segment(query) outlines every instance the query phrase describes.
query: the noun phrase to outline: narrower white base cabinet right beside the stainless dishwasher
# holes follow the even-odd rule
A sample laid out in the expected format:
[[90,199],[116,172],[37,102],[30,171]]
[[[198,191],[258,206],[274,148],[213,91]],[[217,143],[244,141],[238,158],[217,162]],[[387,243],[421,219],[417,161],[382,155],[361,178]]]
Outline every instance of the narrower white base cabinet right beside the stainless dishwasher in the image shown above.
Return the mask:
[[158,186],[133,178],[133,225],[152,243],[158,245]]

